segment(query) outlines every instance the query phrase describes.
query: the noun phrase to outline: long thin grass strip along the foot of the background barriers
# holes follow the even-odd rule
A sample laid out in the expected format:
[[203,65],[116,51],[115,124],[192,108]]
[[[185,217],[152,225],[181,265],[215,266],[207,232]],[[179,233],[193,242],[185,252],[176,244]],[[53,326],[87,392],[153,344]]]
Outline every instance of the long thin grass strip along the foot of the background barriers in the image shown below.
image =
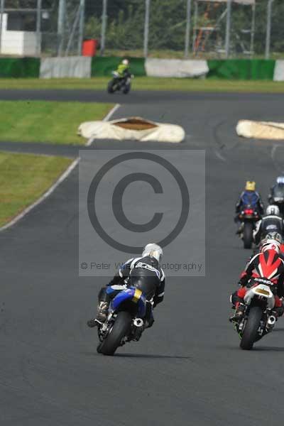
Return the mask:
[[[110,77],[91,79],[0,79],[0,89],[87,89],[106,90]],[[134,90],[176,90],[182,92],[284,93],[284,82],[253,80],[200,80],[136,77]],[[111,97],[109,98],[111,99]],[[87,112],[87,111],[86,111]]]

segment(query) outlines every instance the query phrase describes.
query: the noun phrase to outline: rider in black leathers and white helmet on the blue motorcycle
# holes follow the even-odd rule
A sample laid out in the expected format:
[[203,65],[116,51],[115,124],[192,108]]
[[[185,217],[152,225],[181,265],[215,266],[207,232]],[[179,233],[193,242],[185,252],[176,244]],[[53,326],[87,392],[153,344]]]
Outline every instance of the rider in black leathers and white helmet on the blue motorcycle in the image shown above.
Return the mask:
[[139,288],[148,300],[146,310],[147,327],[153,325],[153,307],[163,301],[165,293],[165,274],[160,267],[163,250],[157,244],[147,244],[143,249],[142,257],[131,258],[126,261],[114,275],[110,283],[99,291],[99,305],[97,317],[89,320],[87,325],[94,327],[107,320],[109,303],[127,286]]

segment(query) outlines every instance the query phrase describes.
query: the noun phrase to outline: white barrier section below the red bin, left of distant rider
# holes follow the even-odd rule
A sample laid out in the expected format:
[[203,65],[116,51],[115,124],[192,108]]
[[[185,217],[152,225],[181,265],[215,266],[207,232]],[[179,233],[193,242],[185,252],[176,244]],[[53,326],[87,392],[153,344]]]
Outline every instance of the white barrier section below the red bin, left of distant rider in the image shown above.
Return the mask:
[[40,61],[40,78],[90,78],[92,58],[69,56],[43,58]]

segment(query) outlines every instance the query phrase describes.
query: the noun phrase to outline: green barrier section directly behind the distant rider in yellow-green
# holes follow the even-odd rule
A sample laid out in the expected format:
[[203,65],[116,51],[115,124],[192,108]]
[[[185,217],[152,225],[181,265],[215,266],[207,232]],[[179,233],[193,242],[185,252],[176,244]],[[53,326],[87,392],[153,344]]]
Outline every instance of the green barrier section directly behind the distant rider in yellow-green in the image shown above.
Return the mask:
[[[111,77],[111,71],[115,71],[123,58],[116,58],[114,56],[102,57],[95,56],[92,58],[92,77]],[[144,58],[129,58],[130,70],[133,75],[141,77],[146,75],[145,59]]]

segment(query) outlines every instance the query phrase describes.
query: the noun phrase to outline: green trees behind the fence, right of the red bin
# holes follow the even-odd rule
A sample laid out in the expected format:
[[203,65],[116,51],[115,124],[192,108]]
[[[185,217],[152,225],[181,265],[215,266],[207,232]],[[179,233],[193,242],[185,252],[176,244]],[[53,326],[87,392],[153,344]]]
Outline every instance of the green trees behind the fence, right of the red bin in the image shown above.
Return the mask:
[[[185,43],[186,0],[151,0],[149,49],[182,51]],[[102,2],[87,0],[86,35],[99,38]],[[193,2],[192,2],[193,4]],[[266,41],[267,0],[256,0],[255,53],[263,55]],[[209,17],[204,17],[207,4],[199,5],[199,26],[210,26],[226,9],[226,4],[211,4]],[[249,50],[251,34],[251,7],[233,5],[231,48],[235,53]],[[109,0],[107,49],[143,48],[145,0]],[[89,17],[88,17],[89,16]],[[94,17],[95,16],[95,17]],[[284,1],[275,0],[272,13],[271,52],[284,52]],[[193,24],[193,7],[192,7]],[[211,36],[207,48],[219,43],[224,48],[226,17],[219,25],[219,33]],[[193,25],[192,25],[193,28]],[[245,30],[245,31],[244,31]]]

